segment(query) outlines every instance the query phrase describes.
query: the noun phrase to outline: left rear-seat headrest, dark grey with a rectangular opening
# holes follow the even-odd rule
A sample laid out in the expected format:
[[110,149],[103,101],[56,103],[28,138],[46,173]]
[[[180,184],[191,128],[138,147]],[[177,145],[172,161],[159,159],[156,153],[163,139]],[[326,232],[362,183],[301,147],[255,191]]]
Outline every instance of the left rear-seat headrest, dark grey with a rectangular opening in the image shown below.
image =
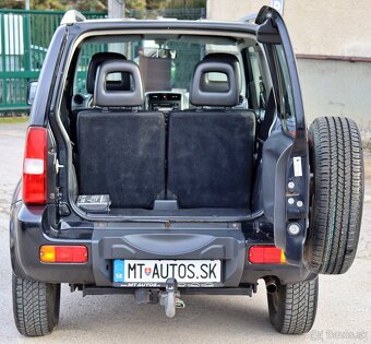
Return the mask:
[[[125,73],[132,81],[132,90],[116,91],[107,88],[107,76],[112,73]],[[94,105],[100,107],[141,106],[144,103],[141,73],[132,61],[108,60],[97,70],[94,87]]]

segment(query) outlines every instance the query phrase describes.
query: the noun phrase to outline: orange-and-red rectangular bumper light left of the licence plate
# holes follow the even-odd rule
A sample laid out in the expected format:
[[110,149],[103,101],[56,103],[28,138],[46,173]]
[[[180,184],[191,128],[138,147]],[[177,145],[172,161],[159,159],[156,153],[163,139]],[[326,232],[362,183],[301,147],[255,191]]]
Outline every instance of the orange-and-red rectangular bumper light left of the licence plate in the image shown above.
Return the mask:
[[43,263],[86,263],[87,248],[82,245],[44,245],[40,247],[40,261]]

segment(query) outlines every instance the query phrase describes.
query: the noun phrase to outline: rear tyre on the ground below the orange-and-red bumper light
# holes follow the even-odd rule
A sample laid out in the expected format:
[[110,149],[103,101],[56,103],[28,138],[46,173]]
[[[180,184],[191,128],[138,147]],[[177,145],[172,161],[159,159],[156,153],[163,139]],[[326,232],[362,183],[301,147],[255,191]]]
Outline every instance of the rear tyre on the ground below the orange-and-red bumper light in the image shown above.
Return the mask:
[[60,284],[29,281],[13,274],[16,329],[26,336],[51,333],[59,320]]

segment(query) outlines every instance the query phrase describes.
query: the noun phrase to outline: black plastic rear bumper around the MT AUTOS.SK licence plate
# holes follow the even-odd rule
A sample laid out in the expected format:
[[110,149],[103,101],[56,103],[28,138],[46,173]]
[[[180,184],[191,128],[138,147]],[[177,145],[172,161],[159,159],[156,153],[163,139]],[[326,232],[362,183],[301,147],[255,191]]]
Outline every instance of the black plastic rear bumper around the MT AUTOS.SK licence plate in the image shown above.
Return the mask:
[[[16,275],[50,283],[71,283],[112,287],[112,261],[135,260],[222,260],[222,283],[215,287],[239,287],[256,284],[259,278],[276,276],[282,283],[313,278],[303,266],[288,264],[251,264],[247,261],[250,246],[240,224],[234,223],[72,223],[53,230],[47,207],[13,204],[10,223],[10,247]],[[41,263],[43,245],[84,245],[88,261]]]

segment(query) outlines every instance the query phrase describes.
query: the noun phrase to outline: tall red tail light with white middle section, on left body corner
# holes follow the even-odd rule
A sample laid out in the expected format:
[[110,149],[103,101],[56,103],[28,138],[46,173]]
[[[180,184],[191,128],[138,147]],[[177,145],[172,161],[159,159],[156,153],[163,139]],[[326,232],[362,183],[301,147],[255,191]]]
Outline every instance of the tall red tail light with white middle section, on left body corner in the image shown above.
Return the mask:
[[26,204],[47,202],[47,129],[29,127],[23,161],[23,201]]

